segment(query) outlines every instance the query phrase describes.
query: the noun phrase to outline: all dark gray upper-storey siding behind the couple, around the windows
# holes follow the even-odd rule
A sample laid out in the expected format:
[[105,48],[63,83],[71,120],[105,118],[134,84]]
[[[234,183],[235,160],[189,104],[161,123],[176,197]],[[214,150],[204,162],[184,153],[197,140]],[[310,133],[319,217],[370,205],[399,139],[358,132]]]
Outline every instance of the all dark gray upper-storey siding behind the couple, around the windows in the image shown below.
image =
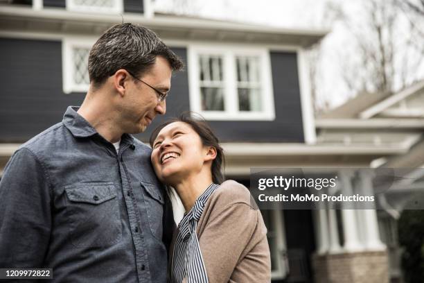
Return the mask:
[[[186,49],[173,49],[186,66]],[[211,121],[221,141],[303,142],[296,53],[272,52],[275,121]],[[68,105],[85,94],[62,91],[61,42],[0,38],[0,141],[26,141],[62,120]],[[168,117],[190,110],[186,71],[173,76],[164,117],[157,117],[140,139]]]

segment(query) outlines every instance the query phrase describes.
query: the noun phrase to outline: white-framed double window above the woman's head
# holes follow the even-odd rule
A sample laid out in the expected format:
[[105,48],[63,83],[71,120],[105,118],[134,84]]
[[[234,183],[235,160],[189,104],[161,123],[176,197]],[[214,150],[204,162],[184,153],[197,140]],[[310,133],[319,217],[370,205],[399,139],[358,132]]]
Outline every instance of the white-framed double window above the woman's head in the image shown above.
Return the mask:
[[191,110],[209,120],[274,120],[269,53],[265,49],[188,49]]

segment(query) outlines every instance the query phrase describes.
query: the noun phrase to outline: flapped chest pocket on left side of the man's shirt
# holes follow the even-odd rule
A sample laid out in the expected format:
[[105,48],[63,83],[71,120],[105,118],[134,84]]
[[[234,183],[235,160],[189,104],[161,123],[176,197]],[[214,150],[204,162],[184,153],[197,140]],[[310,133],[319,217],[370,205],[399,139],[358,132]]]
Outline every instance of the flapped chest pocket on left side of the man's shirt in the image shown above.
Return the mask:
[[65,187],[70,238],[78,248],[106,248],[122,237],[113,183],[92,182]]

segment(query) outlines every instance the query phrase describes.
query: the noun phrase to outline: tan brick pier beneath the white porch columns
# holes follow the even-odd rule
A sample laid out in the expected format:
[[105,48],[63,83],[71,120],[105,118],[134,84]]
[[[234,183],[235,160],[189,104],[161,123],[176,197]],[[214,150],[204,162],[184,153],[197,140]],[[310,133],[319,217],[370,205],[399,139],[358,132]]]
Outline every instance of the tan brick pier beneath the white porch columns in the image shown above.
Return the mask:
[[316,283],[387,283],[387,252],[349,252],[313,255]]

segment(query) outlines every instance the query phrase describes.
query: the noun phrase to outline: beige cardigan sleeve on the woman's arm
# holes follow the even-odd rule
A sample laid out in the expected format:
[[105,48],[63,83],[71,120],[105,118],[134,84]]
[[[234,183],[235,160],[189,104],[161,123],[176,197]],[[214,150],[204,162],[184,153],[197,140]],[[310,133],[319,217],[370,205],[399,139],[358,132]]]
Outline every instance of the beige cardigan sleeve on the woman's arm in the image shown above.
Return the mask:
[[227,283],[258,224],[258,210],[233,203],[211,215],[199,239],[210,283]]

